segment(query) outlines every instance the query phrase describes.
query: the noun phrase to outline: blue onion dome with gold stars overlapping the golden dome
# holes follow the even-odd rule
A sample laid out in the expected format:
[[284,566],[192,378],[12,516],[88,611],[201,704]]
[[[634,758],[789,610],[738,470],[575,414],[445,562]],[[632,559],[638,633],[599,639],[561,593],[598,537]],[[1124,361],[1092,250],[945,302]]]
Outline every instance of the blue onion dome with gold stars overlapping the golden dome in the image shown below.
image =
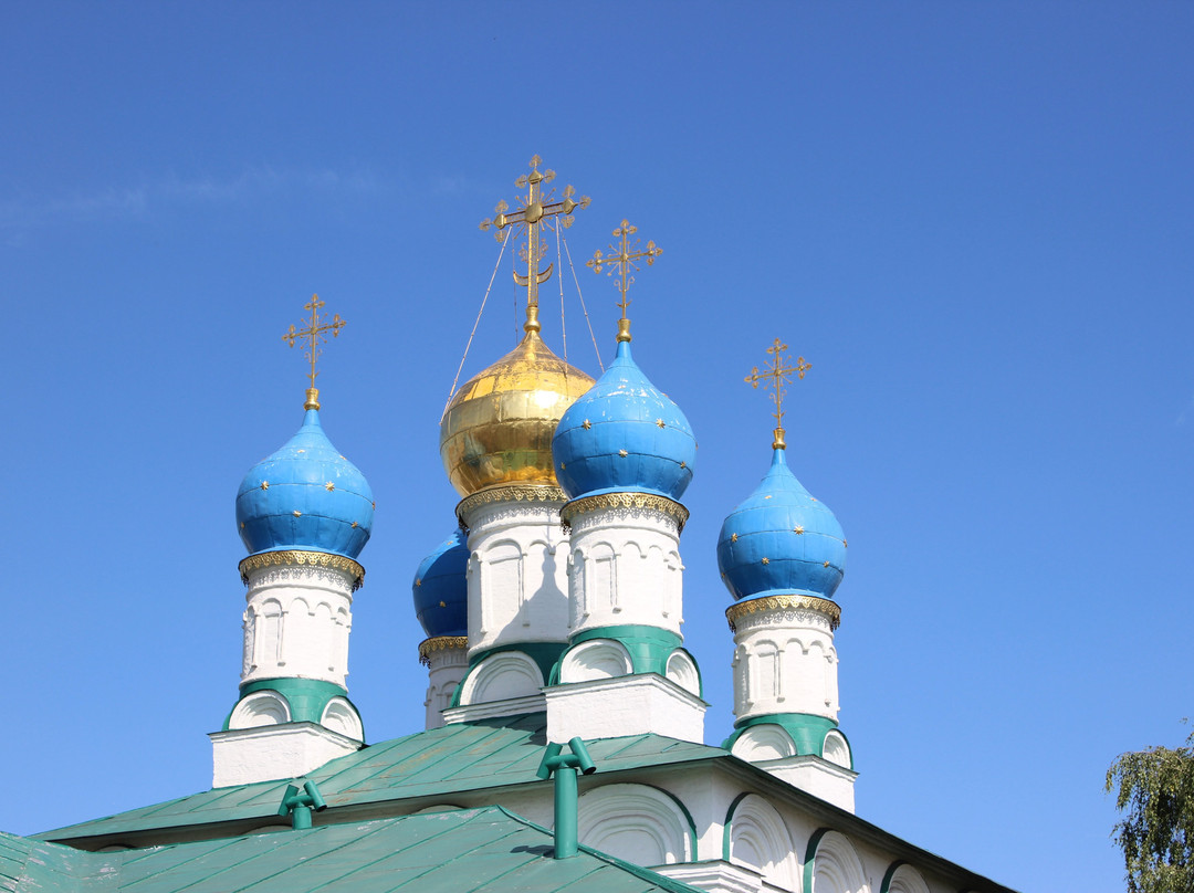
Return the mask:
[[555,479],[570,499],[654,493],[679,499],[693,480],[696,439],[620,341],[597,383],[564,413],[552,439]]

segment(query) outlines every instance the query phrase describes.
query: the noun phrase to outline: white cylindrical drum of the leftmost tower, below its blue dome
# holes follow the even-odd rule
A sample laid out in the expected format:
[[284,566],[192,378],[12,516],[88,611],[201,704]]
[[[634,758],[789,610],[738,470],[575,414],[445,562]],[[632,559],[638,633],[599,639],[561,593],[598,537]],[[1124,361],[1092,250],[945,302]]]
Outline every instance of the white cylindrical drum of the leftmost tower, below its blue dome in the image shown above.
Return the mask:
[[353,577],[312,565],[248,572],[241,684],[321,679],[345,686]]

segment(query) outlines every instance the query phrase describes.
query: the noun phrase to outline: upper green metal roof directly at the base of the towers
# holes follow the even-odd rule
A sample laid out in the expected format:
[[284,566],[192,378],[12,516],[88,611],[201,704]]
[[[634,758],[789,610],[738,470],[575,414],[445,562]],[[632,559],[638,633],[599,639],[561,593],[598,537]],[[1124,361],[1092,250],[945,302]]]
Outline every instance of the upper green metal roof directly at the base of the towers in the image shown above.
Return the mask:
[[[337,807],[395,800],[450,800],[457,793],[537,783],[535,770],[546,744],[546,715],[524,714],[416,732],[333,759],[307,777],[319,784],[333,812]],[[720,747],[657,734],[599,739],[587,746],[602,772],[730,756]],[[278,821],[275,813],[288,782],[214,788],[37,837],[81,844],[86,838],[135,836],[143,831],[209,823],[256,820],[258,825],[272,824]],[[158,837],[158,840],[168,839],[168,836]],[[128,843],[146,842],[130,839]]]

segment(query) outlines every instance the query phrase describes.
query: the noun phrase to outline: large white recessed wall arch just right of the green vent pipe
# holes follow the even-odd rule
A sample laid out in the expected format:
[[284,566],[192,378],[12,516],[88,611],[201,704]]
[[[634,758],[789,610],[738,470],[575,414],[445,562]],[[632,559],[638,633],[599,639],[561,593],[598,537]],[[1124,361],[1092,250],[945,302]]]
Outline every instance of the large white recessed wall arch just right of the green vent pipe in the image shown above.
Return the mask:
[[646,784],[605,784],[580,796],[580,842],[652,867],[691,862],[688,817],[669,794]]

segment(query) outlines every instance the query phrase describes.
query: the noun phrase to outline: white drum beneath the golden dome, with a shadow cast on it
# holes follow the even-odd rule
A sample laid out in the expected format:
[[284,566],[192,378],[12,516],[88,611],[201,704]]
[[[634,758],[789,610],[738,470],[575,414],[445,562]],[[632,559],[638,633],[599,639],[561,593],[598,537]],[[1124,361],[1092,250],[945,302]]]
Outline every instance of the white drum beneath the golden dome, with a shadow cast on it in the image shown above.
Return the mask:
[[468,509],[469,658],[499,645],[567,641],[561,505],[510,500]]

